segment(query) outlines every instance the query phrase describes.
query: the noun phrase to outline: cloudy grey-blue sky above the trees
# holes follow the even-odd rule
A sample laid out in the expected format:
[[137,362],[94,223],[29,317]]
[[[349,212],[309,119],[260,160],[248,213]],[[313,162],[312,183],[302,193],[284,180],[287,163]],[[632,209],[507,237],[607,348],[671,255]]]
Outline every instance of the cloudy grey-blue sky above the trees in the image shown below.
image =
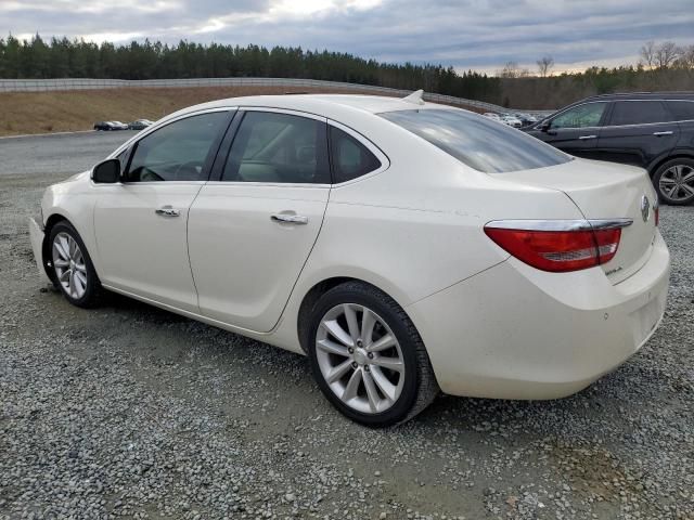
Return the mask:
[[693,0],[0,0],[0,36],[301,46],[493,73],[635,63],[694,43]]

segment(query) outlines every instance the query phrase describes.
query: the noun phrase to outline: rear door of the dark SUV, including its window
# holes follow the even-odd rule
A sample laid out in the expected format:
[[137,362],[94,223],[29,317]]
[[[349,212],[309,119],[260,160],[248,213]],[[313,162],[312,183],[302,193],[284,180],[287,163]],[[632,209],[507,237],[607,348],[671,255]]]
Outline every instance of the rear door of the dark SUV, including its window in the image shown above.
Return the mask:
[[597,142],[597,158],[646,168],[677,144],[680,128],[659,100],[613,102]]

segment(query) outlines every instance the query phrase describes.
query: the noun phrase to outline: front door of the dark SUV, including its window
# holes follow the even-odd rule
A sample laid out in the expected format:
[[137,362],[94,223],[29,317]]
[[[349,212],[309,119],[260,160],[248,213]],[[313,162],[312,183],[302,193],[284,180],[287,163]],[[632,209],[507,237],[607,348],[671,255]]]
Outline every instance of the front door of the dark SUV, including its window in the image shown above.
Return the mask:
[[577,157],[594,158],[608,102],[589,102],[568,108],[550,121],[549,128],[531,134]]

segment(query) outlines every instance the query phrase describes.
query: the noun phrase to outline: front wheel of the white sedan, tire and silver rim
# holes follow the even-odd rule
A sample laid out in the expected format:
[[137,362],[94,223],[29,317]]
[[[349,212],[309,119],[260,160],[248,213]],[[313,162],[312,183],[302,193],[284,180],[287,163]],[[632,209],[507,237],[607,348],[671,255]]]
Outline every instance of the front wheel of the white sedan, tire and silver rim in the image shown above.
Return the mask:
[[49,240],[55,286],[72,304],[94,307],[103,289],[79,233],[63,221],[51,229]]

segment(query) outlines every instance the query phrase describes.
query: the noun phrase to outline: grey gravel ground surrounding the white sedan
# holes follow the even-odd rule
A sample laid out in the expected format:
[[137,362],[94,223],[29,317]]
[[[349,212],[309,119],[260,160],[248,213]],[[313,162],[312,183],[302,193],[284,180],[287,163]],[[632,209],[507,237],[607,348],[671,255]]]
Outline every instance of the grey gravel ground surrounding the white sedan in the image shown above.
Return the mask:
[[1,519],[694,518],[694,207],[663,208],[668,311],[617,372],[553,402],[441,396],[372,431],[299,355],[39,282],[41,191],[126,138],[0,140]]

